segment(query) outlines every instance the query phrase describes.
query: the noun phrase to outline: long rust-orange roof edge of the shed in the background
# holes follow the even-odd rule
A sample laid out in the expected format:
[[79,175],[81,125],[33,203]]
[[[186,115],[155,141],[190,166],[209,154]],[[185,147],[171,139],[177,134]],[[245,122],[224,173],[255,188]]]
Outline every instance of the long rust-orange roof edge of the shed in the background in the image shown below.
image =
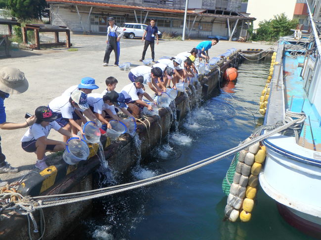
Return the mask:
[[[160,11],[160,12],[172,12],[172,13],[184,13],[184,10],[169,9],[169,8],[158,8],[158,7],[142,7],[142,6],[132,6],[123,4],[112,4],[103,2],[93,2],[93,1],[77,1],[77,0],[46,0],[46,2],[60,2],[60,3],[74,3],[74,4],[84,4],[91,6],[106,6],[106,7],[117,7],[117,8],[128,8],[128,9],[140,9],[148,11]],[[187,11],[189,14],[193,14],[194,11]]]

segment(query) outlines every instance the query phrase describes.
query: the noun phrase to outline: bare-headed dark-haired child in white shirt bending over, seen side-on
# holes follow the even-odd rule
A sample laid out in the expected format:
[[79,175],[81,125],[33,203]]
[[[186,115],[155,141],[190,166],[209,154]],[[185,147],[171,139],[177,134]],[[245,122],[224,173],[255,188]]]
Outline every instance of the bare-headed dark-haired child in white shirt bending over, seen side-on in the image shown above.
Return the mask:
[[129,80],[135,82],[138,76],[143,76],[144,81],[147,82],[148,87],[158,95],[162,95],[162,91],[166,92],[166,88],[160,89],[157,83],[161,82],[163,71],[160,68],[150,68],[148,66],[138,66],[128,74]]

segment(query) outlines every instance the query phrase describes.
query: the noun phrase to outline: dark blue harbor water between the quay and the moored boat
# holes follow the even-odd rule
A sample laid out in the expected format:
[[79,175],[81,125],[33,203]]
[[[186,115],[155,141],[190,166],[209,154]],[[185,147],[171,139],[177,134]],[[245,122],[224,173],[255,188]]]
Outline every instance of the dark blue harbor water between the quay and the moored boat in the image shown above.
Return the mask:
[[[232,148],[262,124],[258,108],[269,62],[239,67],[237,82],[221,86],[152,150],[126,181],[182,168]],[[190,119],[188,119],[190,117]],[[165,133],[163,133],[163,136]],[[289,226],[275,201],[259,189],[248,223],[224,221],[222,180],[232,156],[218,163],[137,190],[94,202],[91,216],[68,239],[79,240],[312,240]],[[121,161],[121,160],[120,160]],[[139,168],[139,169],[138,169]]]

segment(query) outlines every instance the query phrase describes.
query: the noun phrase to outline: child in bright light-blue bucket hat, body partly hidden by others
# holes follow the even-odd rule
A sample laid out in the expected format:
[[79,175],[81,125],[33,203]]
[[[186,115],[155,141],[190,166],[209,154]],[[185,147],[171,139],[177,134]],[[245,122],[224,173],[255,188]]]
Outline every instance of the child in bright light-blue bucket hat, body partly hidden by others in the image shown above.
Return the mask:
[[[92,90],[97,88],[99,87],[95,84],[95,79],[93,79],[92,77],[83,77],[79,85],[71,86],[66,91],[64,91],[62,95],[70,97],[75,90],[80,90],[86,94],[89,94],[92,92]],[[83,112],[78,109],[75,109],[72,116],[76,123],[81,126],[82,122],[84,122]],[[77,134],[77,128],[72,127],[72,132],[74,134]]]

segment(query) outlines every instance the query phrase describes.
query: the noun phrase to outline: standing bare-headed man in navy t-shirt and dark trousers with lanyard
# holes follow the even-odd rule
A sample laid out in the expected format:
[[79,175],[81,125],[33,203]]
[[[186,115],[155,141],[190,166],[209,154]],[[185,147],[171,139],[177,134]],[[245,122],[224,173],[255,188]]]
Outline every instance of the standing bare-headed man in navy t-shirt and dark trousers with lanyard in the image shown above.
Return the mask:
[[150,45],[151,50],[151,58],[153,59],[153,63],[156,63],[155,60],[155,53],[154,53],[154,46],[155,46],[155,36],[156,36],[156,44],[158,44],[158,28],[155,26],[155,20],[150,20],[150,26],[147,26],[145,29],[144,34],[142,35],[141,40],[144,41],[145,38],[145,44],[144,44],[144,50],[142,51],[142,56],[139,62],[142,62],[145,59],[145,54],[147,51],[148,46]]

